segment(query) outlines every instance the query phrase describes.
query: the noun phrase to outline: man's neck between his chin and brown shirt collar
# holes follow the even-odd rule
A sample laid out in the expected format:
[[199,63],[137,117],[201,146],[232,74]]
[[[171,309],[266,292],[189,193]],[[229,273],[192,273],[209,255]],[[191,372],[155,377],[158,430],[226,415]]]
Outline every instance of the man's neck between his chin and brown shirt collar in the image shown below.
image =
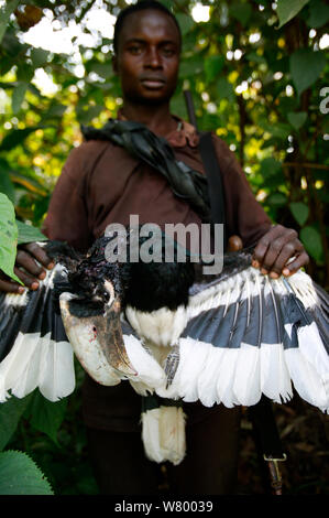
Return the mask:
[[177,127],[177,121],[169,111],[169,105],[136,106],[124,102],[122,116],[128,120],[145,125],[154,133],[165,137]]

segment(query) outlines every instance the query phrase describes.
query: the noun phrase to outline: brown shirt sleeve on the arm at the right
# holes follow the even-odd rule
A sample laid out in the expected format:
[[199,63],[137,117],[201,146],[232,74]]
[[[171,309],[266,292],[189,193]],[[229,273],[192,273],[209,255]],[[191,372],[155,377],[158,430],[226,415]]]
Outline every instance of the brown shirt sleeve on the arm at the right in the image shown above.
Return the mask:
[[221,139],[212,138],[222,174],[227,235],[239,235],[244,247],[255,245],[272,222],[255,199],[235,155]]

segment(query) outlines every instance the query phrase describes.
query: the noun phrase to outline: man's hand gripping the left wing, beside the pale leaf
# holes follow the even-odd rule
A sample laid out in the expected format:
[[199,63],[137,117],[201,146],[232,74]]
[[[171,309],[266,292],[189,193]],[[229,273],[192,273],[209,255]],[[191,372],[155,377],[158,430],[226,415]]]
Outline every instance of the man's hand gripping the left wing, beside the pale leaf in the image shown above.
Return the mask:
[[[24,287],[37,290],[39,280],[43,280],[46,277],[46,271],[43,267],[52,270],[54,266],[53,260],[48,258],[46,252],[36,242],[19,246],[14,273],[24,283]],[[24,287],[0,272],[0,291],[6,293],[23,293],[25,291]]]

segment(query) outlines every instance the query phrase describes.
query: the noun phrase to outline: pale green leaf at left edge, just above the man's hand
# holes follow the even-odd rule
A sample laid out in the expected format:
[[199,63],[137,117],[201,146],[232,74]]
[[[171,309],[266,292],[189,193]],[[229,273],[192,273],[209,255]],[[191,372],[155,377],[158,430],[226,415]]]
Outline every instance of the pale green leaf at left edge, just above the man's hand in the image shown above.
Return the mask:
[[17,245],[18,227],[13,204],[6,194],[0,193],[0,270],[22,284],[13,272]]

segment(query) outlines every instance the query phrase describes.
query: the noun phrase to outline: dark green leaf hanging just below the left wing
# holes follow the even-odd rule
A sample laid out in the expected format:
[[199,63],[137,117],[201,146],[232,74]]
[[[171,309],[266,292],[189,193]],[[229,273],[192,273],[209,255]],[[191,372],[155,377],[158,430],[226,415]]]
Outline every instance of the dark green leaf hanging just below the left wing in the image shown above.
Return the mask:
[[64,420],[66,408],[67,398],[52,402],[36,391],[31,404],[31,424],[46,433],[58,445],[57,431]]

